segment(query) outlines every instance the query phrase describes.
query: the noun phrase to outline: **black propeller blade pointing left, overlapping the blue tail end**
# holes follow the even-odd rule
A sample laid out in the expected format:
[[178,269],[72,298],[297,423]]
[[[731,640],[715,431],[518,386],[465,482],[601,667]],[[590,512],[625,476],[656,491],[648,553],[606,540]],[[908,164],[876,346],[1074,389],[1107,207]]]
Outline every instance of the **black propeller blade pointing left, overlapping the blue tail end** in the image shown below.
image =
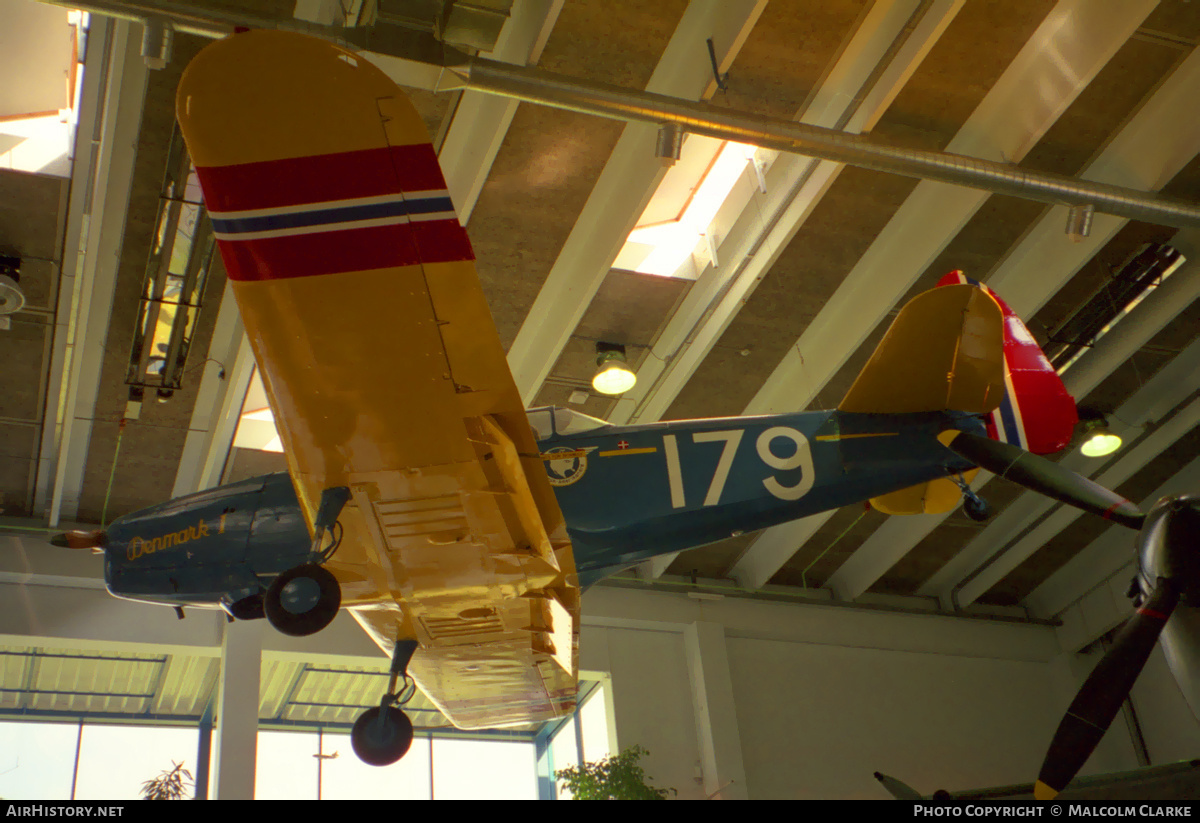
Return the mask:
[[[946,435],[953,437],[947,441]],[[1123,497],[1024,449],[967,432],[944,432],[942,438],[947,447],[960,457],[1060,503],[1130,529],[1140,529],[1146,519],[1141,510]]]

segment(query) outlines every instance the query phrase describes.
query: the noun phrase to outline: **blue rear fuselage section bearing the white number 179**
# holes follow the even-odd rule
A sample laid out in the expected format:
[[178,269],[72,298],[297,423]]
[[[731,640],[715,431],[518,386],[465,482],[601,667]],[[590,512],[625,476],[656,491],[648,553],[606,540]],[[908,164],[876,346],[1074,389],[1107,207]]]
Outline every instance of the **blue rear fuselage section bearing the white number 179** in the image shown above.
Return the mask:
[[583,584],[694,548],[965,471],[947,428],[972,415],[809,412],[606,426],[541,440]]

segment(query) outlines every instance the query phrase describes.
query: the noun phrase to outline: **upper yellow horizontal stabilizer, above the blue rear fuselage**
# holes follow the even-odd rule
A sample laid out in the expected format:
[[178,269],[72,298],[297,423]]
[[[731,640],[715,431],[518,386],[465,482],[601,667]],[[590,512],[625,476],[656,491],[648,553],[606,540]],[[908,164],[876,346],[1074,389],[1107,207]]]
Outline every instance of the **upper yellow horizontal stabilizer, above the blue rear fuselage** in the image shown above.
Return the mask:
[[900,310],[838,410],[984,414],[1003,397],[1001,308],[982,289],[948,286]]

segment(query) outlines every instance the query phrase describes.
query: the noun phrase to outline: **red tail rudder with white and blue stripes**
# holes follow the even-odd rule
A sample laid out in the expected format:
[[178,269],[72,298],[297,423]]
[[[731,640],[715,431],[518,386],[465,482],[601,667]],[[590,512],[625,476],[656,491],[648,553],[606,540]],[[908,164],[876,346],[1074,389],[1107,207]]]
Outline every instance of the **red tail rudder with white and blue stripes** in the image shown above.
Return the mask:
[[1003,311],[1007,391],[989,416],[988,434],[1036,455],[1049,455],[1064,447],[1079,421],[1075,401],[1067,394],[1054,366],[1021,319],[995,292],[961,271],[952,271],[937,284],[977,286],[990,294]]

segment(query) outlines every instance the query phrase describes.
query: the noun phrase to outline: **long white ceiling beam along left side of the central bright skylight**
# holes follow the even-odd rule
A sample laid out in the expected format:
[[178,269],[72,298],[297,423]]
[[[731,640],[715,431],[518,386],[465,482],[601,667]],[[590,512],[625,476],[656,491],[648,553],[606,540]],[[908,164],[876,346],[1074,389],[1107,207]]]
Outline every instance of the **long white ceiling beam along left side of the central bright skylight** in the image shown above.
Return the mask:
[[[689,4],[646,90],[686,100],[709,95],[715,78],[704,41],[713,38],[719,71],[725,72],[764,6],[766,0]],[[625,126],[517,332],[509,366],[527,406],[534,402],[665,174],[655,157],[656,136],[647,124]]]

